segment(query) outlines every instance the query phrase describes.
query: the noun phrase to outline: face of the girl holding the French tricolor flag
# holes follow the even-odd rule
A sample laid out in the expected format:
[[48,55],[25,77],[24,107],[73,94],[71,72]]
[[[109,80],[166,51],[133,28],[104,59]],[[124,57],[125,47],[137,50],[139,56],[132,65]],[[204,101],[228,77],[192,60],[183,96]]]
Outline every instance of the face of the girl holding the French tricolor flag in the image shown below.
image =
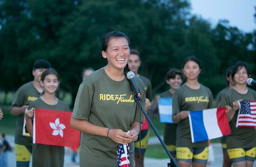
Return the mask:
[[187,80],[195,80],[198,78],[201,69],[199,65],[194,61],[188,61],[183,69],[182,69],[184,75],[186,76]]

